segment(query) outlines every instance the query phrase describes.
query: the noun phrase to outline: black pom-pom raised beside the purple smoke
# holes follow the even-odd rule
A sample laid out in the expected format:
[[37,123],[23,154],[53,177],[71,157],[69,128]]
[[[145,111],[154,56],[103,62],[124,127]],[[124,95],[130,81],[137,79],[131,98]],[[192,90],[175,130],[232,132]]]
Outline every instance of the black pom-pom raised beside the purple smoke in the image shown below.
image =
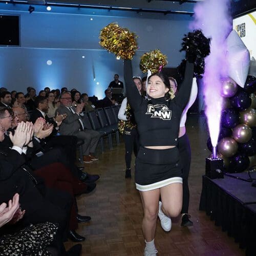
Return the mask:
[[210,39],[206,38],[201,30],[195,30],[185,35],[182,40],[180,52],[186,52],[186,59],[182,60],[177,68],[180,79],[184,78],[186,60],[194,63],[195,76],[202,77],[205,66],[204,58],[210,54]]

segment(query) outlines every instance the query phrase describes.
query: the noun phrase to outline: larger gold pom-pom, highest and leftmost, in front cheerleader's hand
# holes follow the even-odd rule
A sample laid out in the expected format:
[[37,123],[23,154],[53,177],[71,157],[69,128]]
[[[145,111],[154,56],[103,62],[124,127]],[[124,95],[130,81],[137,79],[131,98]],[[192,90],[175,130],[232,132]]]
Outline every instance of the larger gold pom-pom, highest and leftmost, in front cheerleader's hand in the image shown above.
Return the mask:
[[132,59],[138,49],[137,36],[116,23],[104,27],[100,31],[99,39],[99,44],[118,58]]

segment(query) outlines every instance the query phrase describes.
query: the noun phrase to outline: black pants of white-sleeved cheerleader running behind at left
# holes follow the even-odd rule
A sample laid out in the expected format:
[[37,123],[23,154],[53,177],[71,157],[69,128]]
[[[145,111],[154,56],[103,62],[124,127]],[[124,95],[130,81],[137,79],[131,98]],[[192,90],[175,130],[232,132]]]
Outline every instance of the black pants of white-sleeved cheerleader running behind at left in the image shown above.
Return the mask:
[[132,154],[134,152],[135,157],[137,157],[139,151],[139,134],[137,129],[132,129],[131,131],[124,130],[123,139],[125,145],[126,168],[130,169]]

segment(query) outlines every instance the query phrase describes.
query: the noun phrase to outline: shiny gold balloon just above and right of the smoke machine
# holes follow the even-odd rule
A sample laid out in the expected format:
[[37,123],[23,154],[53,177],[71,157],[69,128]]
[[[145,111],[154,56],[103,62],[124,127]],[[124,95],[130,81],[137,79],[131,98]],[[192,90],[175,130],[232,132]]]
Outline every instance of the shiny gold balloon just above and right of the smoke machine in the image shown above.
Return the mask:
[[230,137],[221,139],[217,144],[218,152],[224,157],[231,157],[238,151],[238,143]]

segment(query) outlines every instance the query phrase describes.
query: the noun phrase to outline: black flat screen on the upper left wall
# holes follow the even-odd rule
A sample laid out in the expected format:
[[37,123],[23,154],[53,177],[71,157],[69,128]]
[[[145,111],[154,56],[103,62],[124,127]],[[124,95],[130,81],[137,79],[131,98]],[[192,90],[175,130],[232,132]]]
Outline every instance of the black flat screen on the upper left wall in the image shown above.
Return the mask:
[[19,46],[19,16],[0,14],[0,45]]

